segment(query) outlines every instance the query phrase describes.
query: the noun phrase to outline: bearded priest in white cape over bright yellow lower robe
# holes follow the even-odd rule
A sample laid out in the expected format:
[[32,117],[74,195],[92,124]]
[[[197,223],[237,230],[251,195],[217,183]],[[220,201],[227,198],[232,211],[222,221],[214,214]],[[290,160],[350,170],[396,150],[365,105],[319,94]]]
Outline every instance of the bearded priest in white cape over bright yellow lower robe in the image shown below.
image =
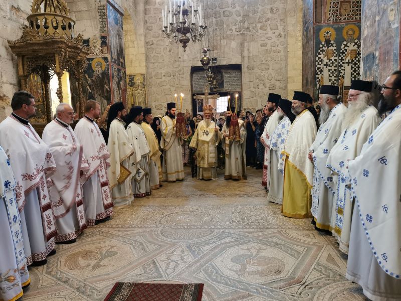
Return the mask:
[[310,95],[295,91],[292,112],[296,115],[284,143],[284,191],[282,212],[293,218],[312,217],[313,165],[308,160],[309,147],[315,140],[316,121],[306,107]]

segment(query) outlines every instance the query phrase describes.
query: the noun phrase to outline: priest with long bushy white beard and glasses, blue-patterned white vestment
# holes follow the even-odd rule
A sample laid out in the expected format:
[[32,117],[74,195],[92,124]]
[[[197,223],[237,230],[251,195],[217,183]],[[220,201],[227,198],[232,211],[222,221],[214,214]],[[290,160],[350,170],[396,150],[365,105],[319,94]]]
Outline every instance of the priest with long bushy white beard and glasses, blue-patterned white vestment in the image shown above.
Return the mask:
[[347,162],[360,154],[363,143],[378,125],[380,118],[372,105],[374,93],[372,82],[354,80],[348,93],[348,108],[342,122],[342,132],[331,149],[326,166],[337,179],[326,182],[335,191],[335,202],[331,212],[331,228],[337,238],[340,251],[348,254],[351,233],[353,198]]

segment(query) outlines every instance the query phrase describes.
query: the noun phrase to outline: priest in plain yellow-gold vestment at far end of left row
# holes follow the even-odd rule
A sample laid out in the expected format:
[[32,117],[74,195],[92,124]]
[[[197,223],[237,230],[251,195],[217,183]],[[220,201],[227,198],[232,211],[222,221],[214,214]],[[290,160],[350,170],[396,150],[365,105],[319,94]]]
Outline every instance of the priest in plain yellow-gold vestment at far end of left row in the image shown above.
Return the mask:
[[161,187],[160,181],[163,180],[163,174],[161,172],[160,156],[161,152],[159,149],[159,143],[157,141],[156,133],[154,132],[151,124],[153,122],[152,109],[143,109],[143,122],[141,127],[145,133],[147,144],[150,149],[150,162],[149,162],[149,181],[150,189],[158,189]]

